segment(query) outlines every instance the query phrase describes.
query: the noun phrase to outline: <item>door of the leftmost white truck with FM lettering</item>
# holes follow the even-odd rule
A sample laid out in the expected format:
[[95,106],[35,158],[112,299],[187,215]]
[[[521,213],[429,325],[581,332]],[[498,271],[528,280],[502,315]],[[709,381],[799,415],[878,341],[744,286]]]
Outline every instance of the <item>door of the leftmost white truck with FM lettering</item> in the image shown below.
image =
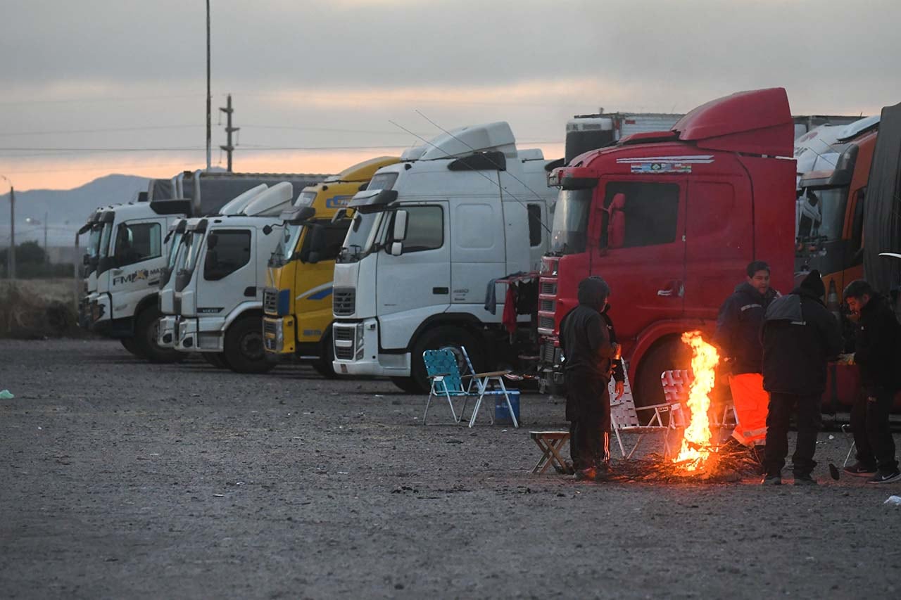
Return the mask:
[[109,271],[113,295],[111,318],[134,316],[137,304],[156,291],[166,266],[163,252],[165,219],[120,223],[113,242],[114,268]]

